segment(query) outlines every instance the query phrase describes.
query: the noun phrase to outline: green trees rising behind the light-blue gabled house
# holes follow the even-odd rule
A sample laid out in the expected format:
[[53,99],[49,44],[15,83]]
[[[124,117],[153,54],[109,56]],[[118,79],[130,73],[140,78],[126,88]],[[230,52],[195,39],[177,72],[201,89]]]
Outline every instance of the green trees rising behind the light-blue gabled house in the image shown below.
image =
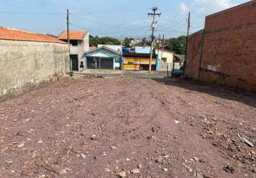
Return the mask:
[[112,38],[108,36],[102,38],[100,38],[99,36],[89,36],[89,43],[90,46],[98,46],[99,44],[119,45],[121,41],[119,41],[117,38]]

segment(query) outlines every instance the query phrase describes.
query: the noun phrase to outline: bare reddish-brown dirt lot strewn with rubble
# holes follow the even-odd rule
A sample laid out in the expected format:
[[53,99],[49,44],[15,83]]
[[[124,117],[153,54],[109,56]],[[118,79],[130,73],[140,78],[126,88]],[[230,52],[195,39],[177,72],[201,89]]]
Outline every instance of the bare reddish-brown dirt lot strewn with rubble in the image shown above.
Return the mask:
[[256,177],[255,93],[65,78],[0,103],[0,125],[0,177]]

